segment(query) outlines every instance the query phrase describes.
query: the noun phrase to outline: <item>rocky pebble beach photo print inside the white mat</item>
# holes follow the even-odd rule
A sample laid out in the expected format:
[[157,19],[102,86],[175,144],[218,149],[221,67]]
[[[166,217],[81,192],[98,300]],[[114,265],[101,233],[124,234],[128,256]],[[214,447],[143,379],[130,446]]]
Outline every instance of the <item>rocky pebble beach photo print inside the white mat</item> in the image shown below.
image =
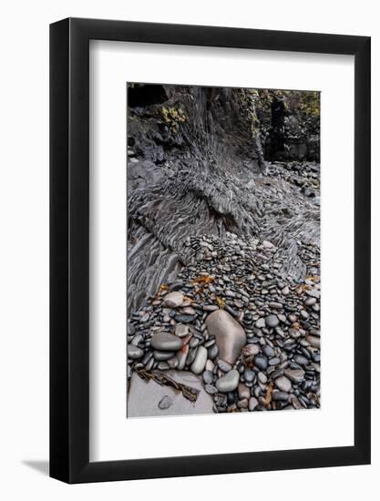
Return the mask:
[[127,417],[319,408],[320,93],[127,105]]

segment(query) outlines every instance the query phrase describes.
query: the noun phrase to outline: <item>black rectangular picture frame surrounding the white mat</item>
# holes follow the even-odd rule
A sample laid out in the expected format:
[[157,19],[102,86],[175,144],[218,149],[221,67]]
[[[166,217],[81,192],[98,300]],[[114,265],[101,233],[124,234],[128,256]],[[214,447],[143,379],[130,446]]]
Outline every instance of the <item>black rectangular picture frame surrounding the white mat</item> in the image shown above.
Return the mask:
[[[354,445],[89,462],[89,40],[354,56]],[[50,26],[50,475],[83,483],[370,463],[368,36],[67,18]]]

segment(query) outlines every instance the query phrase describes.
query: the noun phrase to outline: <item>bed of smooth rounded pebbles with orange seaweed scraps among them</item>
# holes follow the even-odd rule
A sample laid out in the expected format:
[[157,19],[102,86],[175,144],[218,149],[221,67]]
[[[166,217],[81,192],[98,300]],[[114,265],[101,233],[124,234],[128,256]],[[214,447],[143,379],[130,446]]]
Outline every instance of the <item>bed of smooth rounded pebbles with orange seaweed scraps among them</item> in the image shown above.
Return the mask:
[[134,369],[191,371],[215,413],[320,405],[319,249],[299,241],[313,271],[282,276],[266,240],[191,237],[193,260],[128,322]]

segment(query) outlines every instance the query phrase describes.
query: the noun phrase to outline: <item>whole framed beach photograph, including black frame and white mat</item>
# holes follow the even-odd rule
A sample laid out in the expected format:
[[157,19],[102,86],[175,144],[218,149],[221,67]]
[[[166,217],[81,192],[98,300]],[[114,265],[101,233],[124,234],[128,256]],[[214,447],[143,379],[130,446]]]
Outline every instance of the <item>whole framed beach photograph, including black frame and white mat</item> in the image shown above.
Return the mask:
[[370,463],[370,102],[368,36],[50,26],[52,477]]

